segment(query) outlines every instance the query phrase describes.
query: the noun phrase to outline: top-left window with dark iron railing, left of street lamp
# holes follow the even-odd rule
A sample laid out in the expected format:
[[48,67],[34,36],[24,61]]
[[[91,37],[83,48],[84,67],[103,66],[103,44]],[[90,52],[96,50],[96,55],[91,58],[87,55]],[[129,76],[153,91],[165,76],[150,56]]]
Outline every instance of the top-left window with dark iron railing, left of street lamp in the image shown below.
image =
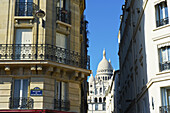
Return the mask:
[[33,0],[16,0],[15,16],[33,16]]

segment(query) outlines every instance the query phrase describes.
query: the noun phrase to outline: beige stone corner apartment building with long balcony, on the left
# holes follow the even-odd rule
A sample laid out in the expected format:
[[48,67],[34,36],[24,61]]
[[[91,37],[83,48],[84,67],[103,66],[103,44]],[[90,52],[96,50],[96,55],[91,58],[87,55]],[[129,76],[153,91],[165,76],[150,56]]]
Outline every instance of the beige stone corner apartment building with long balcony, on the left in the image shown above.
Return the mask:
[[85,0],[0,0],[0,8],[0,112],[86,112]]

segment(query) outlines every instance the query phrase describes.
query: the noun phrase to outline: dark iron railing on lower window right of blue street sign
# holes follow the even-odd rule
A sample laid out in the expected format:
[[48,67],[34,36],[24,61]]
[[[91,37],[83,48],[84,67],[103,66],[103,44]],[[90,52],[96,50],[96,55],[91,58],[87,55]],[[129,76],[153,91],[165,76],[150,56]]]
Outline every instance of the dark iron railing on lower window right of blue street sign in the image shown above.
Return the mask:
[[70,110],[70,101],[54,99],[54,109],[57,109],[60,111],[68,111],[68,110]]

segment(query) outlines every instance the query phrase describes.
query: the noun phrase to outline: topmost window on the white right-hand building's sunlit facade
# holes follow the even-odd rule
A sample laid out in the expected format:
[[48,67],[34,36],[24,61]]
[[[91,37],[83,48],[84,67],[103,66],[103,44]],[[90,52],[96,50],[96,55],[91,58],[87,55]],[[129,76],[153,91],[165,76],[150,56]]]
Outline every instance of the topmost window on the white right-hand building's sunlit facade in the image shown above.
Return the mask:
[[169,24],[167,2],[163,1],[155,6],[156,10],[156,26]]

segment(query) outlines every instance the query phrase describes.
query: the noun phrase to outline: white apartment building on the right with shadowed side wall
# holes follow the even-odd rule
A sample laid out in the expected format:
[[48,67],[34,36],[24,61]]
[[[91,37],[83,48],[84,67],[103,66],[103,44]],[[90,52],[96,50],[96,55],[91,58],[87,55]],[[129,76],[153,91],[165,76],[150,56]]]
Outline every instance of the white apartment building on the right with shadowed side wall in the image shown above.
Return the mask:
[[170,112],[170,1],[125,0],[117,113]]

